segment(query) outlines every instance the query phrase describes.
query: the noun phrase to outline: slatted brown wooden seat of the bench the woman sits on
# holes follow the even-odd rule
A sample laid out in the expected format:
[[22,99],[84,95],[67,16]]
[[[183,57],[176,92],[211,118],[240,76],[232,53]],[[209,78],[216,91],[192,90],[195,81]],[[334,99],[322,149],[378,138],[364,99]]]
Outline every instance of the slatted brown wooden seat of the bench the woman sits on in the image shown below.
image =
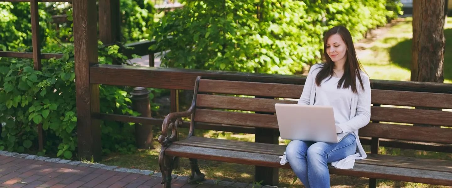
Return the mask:
[[[248,150],[238,151],[229,150],[225,152],[226,146],[221,149],[212,148],[214,146],[200,143],[194,143],[197,146],[189,145],[189,138],[185,141],[185,145],[181,145],[184,141],[174,142],[173,145],[165,150],[169,156],[180,156],[187,158],[197,158],[202,160],[216,160],[230,163],[238,163],[245,165],[260,165],[274,168],[290,169],[290,165],[280,165],[277,155],[252,153],[254,142],[249,142]],[[205,138],[216,139],[216,138]],[[231,140],[217,139],[219,143],[230,142]],[[199,141],[199,140],[198,140]],[[243,141],[235,141],[243,142]],[[228,144],[229,145],[229,144]],[[218,145],[217,145],[218,146]],[[220,147],[220,146],[218,146]],[[268,147],[281,147],[282,145],[268,144]],[[243,148],[246,149],[246,148]],[[279,150],[279,149],[278,149]],[[276,151],[276,150],[275,150]],[[279,152],[279,151],[278,151]],[[389,179],[417,183],[430,183],[438,185],[452,185],[452,162],[443,160],[423,160],[410,157],[388,156],[392,158],[385,158],[386,156],[369,155],[365,160],[357,160],[353,170],[335,169],[329,166],[330,173],[352,175],[376,179]],[[414,161],[414,162],[413,162]],[[402,166],[395,164],[401,163]],[[449,168],[448,168],[449,167]],[[417,170],[412,170],[412,169]]]

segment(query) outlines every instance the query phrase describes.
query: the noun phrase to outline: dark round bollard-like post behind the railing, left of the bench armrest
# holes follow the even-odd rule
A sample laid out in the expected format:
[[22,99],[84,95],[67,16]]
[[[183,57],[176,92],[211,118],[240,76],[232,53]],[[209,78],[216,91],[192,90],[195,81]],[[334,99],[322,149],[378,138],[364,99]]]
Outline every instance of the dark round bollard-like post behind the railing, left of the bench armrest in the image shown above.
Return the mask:
[[[139,112],[141,117],[151,117],[150,91],[146,87],[133,88],[132,107]],[[140,149],[153,148],[152,146],[152,124],[135,124],[135,139]]]

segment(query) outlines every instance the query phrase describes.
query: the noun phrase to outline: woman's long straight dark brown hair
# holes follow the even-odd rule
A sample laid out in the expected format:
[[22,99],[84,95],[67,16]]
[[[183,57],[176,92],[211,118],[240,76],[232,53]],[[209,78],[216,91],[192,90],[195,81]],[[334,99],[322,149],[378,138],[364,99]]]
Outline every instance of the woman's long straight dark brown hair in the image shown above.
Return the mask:
[[334,62],[331,60],[328,53],[326,53],[326,43],[328,38],[330,38],[334,34],[339,34],[344,40],[345,45],[347,46],[347,60],[344,64],[344,75],[339,79],[338,88],[348,88],[352,87],[352,91],[354,93],[358,93],[357,85],[356,85],[356,77],[361,84],[361,88],[364,90],[363,81],[361,79],[360,70],[362,70],[362,65],[358,61],[358,57],[356,55],[355,46],[353,46],[352,35],[344,26],[334,26],[328,32],[325,33],[325,37],[323,39],[324,44],[324,55],[326,59],[326,63],[321,67],[317,77],[315,78],[315,84],[320,86],[320,83],[328,77],[333,76],[333,68]]

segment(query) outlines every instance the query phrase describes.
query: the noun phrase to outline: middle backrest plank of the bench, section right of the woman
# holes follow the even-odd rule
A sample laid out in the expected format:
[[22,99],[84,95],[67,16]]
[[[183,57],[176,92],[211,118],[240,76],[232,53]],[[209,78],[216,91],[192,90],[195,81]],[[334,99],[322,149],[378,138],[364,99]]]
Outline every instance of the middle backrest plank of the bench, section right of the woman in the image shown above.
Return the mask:
[[372,106],[371,120],[452,127],[452,112]]

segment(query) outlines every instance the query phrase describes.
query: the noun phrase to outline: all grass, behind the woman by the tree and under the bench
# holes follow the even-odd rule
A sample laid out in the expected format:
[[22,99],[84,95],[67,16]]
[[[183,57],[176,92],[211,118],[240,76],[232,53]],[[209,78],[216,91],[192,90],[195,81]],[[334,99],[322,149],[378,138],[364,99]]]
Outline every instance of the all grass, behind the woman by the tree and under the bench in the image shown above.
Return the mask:
[[[452,83],[452,18],[447,19],[445,27],[446,52],[444,53],[444,78],[445,83]],[[411,62],[411,19],[400,19],[392,27],[385,28],[386,32],[377,37],[376,40],[364,39],[355,44],[358,49],[358,57],[364,69],[372,79],[383,80],[410,80]],[[384,30],[384,29],[383,29]],[[183,139],[188,130],[182,128],[179,135]],[[106,165],[116,165],[125,168],[137,168],[160,171],[158,166],[158,154],[160,145],[156,141],[159,133],[154,133],[155,149],[139,150],[132,155],[111,154],[106,156],[101,163]],[[253,134],[234,134],[229,132],[197,130],[196,136],[234,139],[254,142]],[[279,140],[279,143],[286,145],[287,140]],[[364,146],[370,152],[369,146]],[[414,156],[420,158],[433,158],[452,160],[450,153],[426,152],[417,150],[404,150],[390,147],[380,147],[381,154]],[[223,163],[217,161],[199,160],[201,171],[208,179],[233,180],[244,183],[254,182],[254,166]],[[173,173],[188,175],[190,166],[187,159],[180,159],[180,167]],[[278,186],[282,187],[304,187],[300,180],[292,184],[296,175],[292,170],[279,170]],[[331,174],[331,187],[333,188],[367,188],[368,179],[352,176],[342,176]],[[378,188],[444,188],[444,186],[427,185],[421,183],[407,183],[398,181],[378,180]]]

